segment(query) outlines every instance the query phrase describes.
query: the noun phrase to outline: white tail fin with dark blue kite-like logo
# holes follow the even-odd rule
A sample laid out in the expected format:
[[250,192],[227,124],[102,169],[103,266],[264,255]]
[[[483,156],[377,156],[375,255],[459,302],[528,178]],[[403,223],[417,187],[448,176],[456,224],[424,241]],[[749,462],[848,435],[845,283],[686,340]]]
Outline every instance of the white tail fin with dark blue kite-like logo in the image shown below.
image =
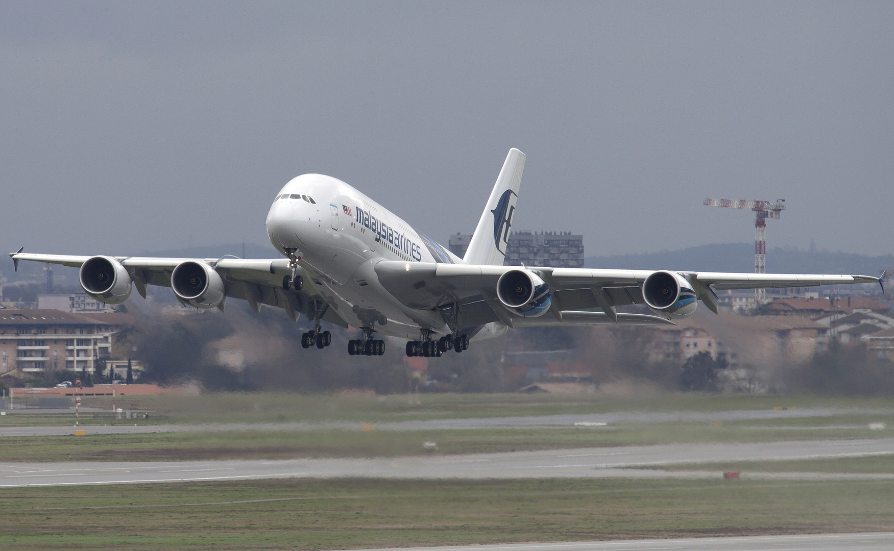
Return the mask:
[[485,212],[468,242],[463,261],[468,264],[501,265],[506,256],[506,245],[509,241],[509,230],[512,226],[512,214],[519,200],[521,172],[525,170],[525,154],[512,148],[506,155],[497,183],[493,186],[490,199],[487,200]]

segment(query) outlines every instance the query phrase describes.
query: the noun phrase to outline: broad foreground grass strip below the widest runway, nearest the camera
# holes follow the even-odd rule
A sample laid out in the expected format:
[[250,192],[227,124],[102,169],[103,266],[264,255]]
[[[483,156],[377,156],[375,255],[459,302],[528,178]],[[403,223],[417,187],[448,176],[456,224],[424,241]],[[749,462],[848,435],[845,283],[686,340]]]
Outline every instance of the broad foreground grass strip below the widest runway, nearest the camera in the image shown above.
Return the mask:
[[0,490],[4,549],[342,549],[894,530],[894,482],[260,480]]

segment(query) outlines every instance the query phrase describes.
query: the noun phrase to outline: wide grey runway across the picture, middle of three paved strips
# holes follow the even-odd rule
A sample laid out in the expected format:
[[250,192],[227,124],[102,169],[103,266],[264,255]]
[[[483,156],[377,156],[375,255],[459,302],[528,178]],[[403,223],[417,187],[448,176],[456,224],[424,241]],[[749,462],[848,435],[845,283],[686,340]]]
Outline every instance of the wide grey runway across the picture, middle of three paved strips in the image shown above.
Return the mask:
[[[282,461],[4,463],[0,487],[127,484],[180,480],[364,477],[385,479],[720,478],[721,472],[667,472],[668,464],[894,455],[894,438],[745,444],[670,444],[474,455]],[[637,468],[637,467],[646,467]],[[894,480],[890,474],[745,473],[752,479]]]

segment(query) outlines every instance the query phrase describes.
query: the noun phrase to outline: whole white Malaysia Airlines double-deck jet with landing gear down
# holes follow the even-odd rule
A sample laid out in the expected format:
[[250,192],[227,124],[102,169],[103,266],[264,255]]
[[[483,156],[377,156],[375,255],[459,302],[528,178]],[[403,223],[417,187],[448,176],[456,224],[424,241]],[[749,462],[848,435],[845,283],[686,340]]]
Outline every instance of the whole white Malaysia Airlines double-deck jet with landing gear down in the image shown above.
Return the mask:
[[[304,314],[314,329],[301,346],[325,348],[322,321],[353,326],[350,355],[382,355],[379,335],[407,338],[407,355],[462,352],[469,342],[509,328],[546,325],[666,324],[695,312],[717,313],[717,289],[813,287],[879,282],[861,275],[788,275],[504,266],[525,154],[510,149],[463,258],[419,233],[358,189],[322,174],[291,179],[267,213],[272,260],[149,258],[12,253],[21,260],[80,268],[89,296],[118,305],[131,287],[170,287],[183,304],[223,310],[239,298],[260,312]],[[619,313],[645,304],[655,315]]]

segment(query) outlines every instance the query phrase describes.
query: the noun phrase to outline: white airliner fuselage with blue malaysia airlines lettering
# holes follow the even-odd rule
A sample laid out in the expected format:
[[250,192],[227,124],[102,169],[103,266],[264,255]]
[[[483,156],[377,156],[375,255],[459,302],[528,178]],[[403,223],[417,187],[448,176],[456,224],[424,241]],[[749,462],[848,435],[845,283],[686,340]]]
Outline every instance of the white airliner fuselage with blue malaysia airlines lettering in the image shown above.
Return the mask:
[[295,251],[316,290],[350,325],[401,338],[419,338],[423,327],[450,332],[439,313],[401,305],[379,285],[373,266],[462,260],[342,180],[323,174],[291,179],[267,213],[266,230],[283,255]]

